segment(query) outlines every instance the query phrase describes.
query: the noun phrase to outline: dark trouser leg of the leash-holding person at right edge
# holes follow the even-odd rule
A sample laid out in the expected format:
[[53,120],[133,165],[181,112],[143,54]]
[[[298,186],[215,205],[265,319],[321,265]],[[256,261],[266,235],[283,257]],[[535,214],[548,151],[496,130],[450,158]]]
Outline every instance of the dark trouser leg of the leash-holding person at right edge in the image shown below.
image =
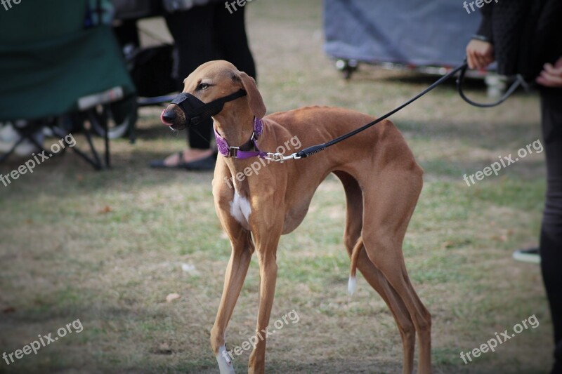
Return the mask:
[[541,270],[554,324],[555,365],[562,373],[562,90],[541,91],[547,199],[540,236]]

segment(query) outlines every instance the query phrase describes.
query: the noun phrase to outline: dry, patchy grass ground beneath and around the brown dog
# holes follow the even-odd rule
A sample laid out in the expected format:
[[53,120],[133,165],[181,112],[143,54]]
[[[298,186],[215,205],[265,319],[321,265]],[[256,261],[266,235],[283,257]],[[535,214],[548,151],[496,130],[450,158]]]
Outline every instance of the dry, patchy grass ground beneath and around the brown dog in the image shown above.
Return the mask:
[[[351,81],[341,79],[322,53],[318,0],[259,0],[247,15],[268,112],[318,104],[377,115],[432,81],[365,65]],[[484,99],[481,86],[469,94]],[[514,249],[537,244],[543,156],[471,187],[462,180],[540,138],[537,97],[518,94],[483,110],[446,84],[393,121],[426,172],[404,253],[433,315],[434,371],[544,373],[552,338],[540,269],[511,259]],[[147,167],[185,146],[183,133],[159,126],[157,109],[143,109],[138,135],[136,145],[112,142],[110,170],[92,171],[67,154],[1,188],[0,354],[76,319],[84,330],[10,366],[0,361],[0,372],[216,373],[209,330],[230,251],[211,174]],[[23,161],[11,159],[0,172]],[[268,341],[268,373],[401,370],[398,330],[379,295],[362,278],[358,292],[346,294],[343,229],[343,189],[330,177],[301,227],[280,243],[272,322],[293,309],[300,321]],[[254,258],[229,349],[254,331],[258,285]],[[181,297],[166,302],[169,293]],[[467,365],[459,358],[533,314],[538,328]],[[236,359],[237,371],[246,370],[248,356]]]

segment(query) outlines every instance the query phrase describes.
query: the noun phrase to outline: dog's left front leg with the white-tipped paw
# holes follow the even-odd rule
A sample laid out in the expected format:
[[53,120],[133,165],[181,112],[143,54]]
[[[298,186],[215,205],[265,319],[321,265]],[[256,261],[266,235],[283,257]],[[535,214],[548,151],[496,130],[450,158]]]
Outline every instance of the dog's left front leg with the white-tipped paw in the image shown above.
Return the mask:
[[215,323],[211,329],[211,347],[221,374],[234,373],[233,356],[226,351],[225,347],[225,331],[240,295],[240,290],[242,290],[251,255],[254,252],[250,234],[245,230],[240,229],[240,238],[233,238],[231,241],[233,251],[226,268],[221,305],[218,307]]

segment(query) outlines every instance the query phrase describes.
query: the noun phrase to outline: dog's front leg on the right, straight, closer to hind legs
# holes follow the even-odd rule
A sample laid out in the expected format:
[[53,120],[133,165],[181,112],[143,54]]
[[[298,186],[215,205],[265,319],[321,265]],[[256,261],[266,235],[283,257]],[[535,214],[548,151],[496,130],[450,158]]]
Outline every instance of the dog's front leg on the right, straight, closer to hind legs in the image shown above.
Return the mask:
[[[282,227],[282,225],[279,225]],[[261,231],[265,236],[256,234],[256,251],[259,260],[259,310],[256,326],[254,350],[250,354],[248,373],[263,374],[266,370],[266,338],[268,324],[275,297],[275,282],[277,281],[277,244],[281,233],[275,229]]]

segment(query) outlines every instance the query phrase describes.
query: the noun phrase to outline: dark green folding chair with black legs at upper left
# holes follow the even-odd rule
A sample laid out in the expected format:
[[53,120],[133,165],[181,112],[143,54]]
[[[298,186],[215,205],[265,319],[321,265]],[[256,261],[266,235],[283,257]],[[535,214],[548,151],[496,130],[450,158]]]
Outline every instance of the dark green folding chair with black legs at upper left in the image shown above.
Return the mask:
[[110,166],[108,115],[117,123],[136,115],[135,88],[112,29],[85,26],[100,15],[87,0],[5,4],[11,7],[0,5],[0,122],[26,120],[27,126],[16,128],[20,142],[28,138],[40,150],[30,134],[43,126],[60,138],[81,131],[91,156],[71,149],[99,169],[104,163],[84,126],[90,121],[105,130],[105,166]]

